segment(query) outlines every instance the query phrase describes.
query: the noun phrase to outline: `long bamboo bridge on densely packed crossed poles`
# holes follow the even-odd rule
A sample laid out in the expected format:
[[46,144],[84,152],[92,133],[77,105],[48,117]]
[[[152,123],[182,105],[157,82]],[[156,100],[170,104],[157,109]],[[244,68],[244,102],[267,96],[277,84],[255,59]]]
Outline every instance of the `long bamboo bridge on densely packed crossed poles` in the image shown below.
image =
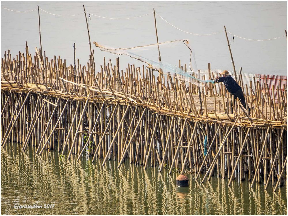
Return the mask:
[[[35,50],[32,56],[26,44],[25,53],[1,58],[3,148],[16,142],[39,155],[176,169],[201,182],[216,175],[228,185],[240,179],[276,190],[287,183],[287,85],[280,81],[270,91],[267,82],[245,84],[239,75],[249,113],[222,83],[197,87],[129,64],[123,71],[119,58],[115,65],[104,58],[96,70],[93,55],[81,65],[74,54],[72,65]],[[208,64],[202,79],[214,75]]]

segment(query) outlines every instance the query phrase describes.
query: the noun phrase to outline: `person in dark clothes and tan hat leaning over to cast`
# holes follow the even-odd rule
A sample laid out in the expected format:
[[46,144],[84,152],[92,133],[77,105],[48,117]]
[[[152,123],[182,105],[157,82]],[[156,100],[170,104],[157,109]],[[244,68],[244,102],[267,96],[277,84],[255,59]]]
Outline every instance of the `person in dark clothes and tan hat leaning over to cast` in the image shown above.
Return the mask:
[[[234,100],[239,98],[241,104],[247,110],[244,93],[243,93],[240,85],[238,85],[238,83],[233,79],[233,77],[231,77],[229,75],[228,70],[223,70],[223,72],[221,72],[220,74],[222,75],[222,77],[216,77],[214,79],[214,82],[215,83],[222,83],[223,82],[227,91],[231,93],[231,96],[234,95]],[[232,107],[232,100],[231,100],[231,107]],[[248,107],[248,109],[250,112],[251,109],[249,107]]]

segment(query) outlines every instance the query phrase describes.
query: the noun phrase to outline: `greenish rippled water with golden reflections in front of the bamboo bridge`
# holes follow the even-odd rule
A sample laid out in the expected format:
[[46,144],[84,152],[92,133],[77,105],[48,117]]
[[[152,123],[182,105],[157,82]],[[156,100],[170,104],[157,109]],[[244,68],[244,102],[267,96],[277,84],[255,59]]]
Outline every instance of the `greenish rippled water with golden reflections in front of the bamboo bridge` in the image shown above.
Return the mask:
[[[116,162],[117,163],[117,162]],[[287,188],[276,193],[263,185],[212,177],[189,188],[175,186],[176,173],[114,161],[105,167],[83,158],[59,159],[58,152],[24,153],[20,145],[1,149],[1,214],[206,215],[287,214]],[[14,204],[55,204],[53,209],[14,209]]]

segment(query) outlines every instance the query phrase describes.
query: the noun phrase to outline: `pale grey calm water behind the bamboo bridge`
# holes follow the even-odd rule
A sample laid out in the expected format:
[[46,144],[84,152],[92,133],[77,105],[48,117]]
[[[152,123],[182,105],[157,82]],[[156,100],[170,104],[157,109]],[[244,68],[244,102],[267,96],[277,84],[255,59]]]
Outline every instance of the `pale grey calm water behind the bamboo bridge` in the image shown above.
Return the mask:
[[[27,11],[40,8],[59,15],[74,15],[86,11],[110,18],[131,18],[153,12],[153,8],[174,26],[196,34],[210,34],[227,30],[240,37],[249,39],[270,39],[285,35],[287,29],[287,1],[129,1],[129,2],[1,2],[1,56],[10,49],[12,56],[18,51],[25,53],[25,41],[30,52],[39,48],[38,13],[16,13],[3,9]],[[84,14],[73,17],[60,17],[40,11],[42,47],[46,56],[54,55],[67,59],[73,64],[73,43],[76,43],[76,58],[80,64],[89,59],[89,44]],[[224,32],[210,36],[191,35],[167,24],[156,16],[159,42],[175,39],[187,39],[191,42],[196,55],[198,69],[207,69],[208,62],[212,69],[233,70]],[[153,14],[131,20],[111,20],[91,16],[89,20],[91,43],[111,47],[134,47],[156,43]],[[231,41],[231,35],[228,35]],[[95,49],[96,68],[103,64],[103,56],[114,63],[116,55]],[[287,74],[286,37],[271,41],[248,41],[235,37],[231,42],[236,70],[242,72]],[[157,50],[155,54],[157,56]],[[189,50],[185,47],[173,47],[162,50],[164,62],[178,65],[178,59],[189,63]],[[151,54],[152,55],[152,54]],[[125,70],[127,63],[141,66],[129,57],[121,56],[120,69]],[[156,59],[158,58],[156,57]]]

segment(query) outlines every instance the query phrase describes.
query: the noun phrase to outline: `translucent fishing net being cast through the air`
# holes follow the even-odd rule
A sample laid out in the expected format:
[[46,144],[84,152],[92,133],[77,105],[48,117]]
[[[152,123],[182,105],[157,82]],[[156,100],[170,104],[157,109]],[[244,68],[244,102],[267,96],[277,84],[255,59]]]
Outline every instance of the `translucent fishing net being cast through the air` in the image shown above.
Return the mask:
[[[147,68],[158,71],[159,73],[163,74],[164,77],[170,75],[176,79],[187,81],[200,87],[203,87],[205,83],[214,83],[213,80],[201,79],[200,73],[197,70],[194,51],[190,47],[189,41],[187,40],[166,41],[159,44],[117,49],[106,45],[100,45],[96,42],[94,42],[94,44],[96,47],[99,47],[101,51],[108,51],[117,55],[127,55],[131,58],[145,62],[147,64]],[[163,59],[175,59],[177,53],[180,54],[183,52],[183,50],[185,53],[187,52],[187,56],[189,56],[190,61],[187,71],[181,69],[179,66],[165,62],[165,60],[163,61]],[[161,61],[159,61],[160,51]]]

